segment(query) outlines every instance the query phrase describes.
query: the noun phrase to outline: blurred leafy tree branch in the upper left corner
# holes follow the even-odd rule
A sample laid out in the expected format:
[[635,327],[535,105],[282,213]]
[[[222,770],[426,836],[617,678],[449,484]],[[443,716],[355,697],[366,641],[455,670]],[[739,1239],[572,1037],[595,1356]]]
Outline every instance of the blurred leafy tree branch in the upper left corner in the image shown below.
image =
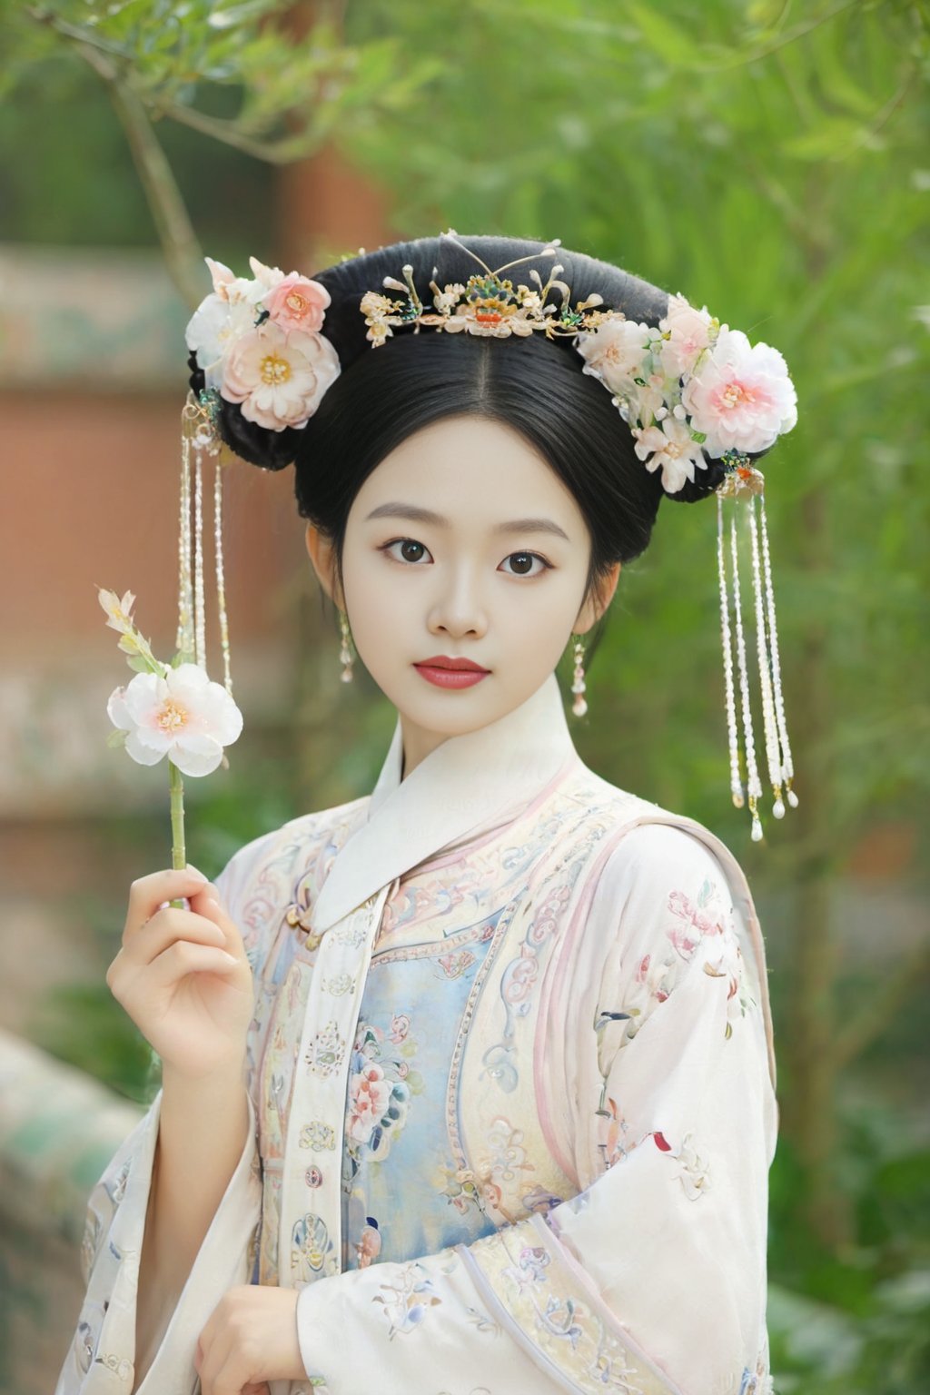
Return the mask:
[[[123,124],[171,278],[190,308],[204,296],[202,252],[177,180],[155,134],[163,119],[282,165],[315,153],[336,131],[411,102],[439,71],[395,36],[342,39],[343,4],[307,10],[280,0],[226,7],[205,0],[92,0],[7,4],[7,96],[36,64],[86,63]],[[294,21],[301,28],[294,32]],[[240,95],[234,117],[209,112],[211,92]]]

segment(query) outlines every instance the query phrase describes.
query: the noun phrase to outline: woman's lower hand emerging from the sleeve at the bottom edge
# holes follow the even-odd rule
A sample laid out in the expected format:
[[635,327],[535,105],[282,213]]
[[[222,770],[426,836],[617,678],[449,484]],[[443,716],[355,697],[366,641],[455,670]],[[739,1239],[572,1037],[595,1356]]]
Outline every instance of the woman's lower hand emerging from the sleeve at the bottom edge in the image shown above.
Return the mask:
[[201,1395],[265,1395],[266,1381],[305,1381],[297,1341],[297,1289],[230,1289],[197,1343]]

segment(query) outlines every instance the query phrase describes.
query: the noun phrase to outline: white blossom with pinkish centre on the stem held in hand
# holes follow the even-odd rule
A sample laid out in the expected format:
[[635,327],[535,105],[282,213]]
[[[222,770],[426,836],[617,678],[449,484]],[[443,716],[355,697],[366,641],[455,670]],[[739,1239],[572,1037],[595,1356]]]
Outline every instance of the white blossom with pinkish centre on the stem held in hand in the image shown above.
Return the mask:
[[185,776],[208,776],[243,730],[243,714],[222,684],[199,664],[178,664],[159,674],[137,674],[116,688],[106,704],[114,727],[125,731],[125,749],[141,766],[163,756]]

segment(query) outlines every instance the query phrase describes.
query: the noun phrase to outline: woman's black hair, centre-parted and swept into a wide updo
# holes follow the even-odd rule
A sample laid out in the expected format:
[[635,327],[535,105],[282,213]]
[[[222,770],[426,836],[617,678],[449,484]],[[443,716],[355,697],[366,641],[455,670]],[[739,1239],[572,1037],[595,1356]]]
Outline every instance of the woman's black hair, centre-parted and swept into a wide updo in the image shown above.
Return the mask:
[[[547,243],[494,236],[456,234],[492,269],[541,252]],[[340,374],[323,393],[307,425],[270,431],[243,417],[236,403],[220,399],[219,430],[244,460],[279,470],[294,463],[294,491],[301,518],[333,541],[342,585],[342,548],[351,504],[358,490],[402,441],[450,416],[478,416],[519,431],[572,491],[590,536],[591,557],[586,597],[616,562],[629,562],[648,545],[662,498],[693,504],[708,497],[724,477],[724,466],[708,460],[694,481],[675,494],[662,488],[634,453],[633,435],[612,403],[612,393],[584,374],[573,338],[549,339],[541,332],[506,339],[449,333],[434,328],[395,328],[378,347],[367,338],[361,297],[374,290],[390,299],[383,278],[402,280],[413,266],[413,282],[425,308],[432,308],[429,282],[467,283],[478,262],[450,239],[420,237],[343,259],[312,279],[329,292],[322,333],[339,354]],[[554,264],[570,287],[570,306],[598,293],[604,307],[627,319],[658,325],[668,292],[584,252],[558,247],[555,257],[505,272],[513,285],[534,287],[535,266],[545,283]],[[561,306],[561,293],[548,301]],[[191,356],[191,385],[204,374]],[[764,453],[764,452],[763,452]]]

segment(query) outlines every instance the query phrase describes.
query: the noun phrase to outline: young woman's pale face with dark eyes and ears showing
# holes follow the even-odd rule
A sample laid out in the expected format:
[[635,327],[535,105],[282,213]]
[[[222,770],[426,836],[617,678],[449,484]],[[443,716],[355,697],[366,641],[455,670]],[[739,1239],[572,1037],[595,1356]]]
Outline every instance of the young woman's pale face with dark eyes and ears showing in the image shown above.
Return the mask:
[[[484,417],[417,431],[368,476],[346,526],[344,596],[332,545],[312,525],[307,548],[399,711],[404,777],[446,737],[526,702],[619,576],[616,564],[600,604],[583,605],[591,540],[573,495],[528,441]],[[468,658],[485,674],[442,685],[424,671],[431,658]]]

